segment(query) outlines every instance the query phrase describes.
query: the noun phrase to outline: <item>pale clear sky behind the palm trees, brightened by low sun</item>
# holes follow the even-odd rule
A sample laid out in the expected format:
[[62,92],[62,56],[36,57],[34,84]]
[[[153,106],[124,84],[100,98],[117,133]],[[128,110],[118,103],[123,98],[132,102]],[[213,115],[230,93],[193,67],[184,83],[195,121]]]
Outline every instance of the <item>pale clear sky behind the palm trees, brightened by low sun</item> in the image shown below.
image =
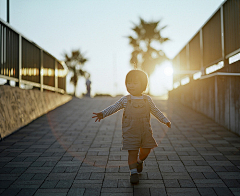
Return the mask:
[[[6,1],[0,0],[0,18],[6,21]],[[206,23],[223,0],[10,0],[10,25],[24,37],[64,60],[64,53],[80,49],[88,62],[92,92],[127,94],[125,76],[132,69],[131,28],[141,17],[159,21],[169,42],[163,51],[172,59]],[[157,66],[149,78],[151,94],[161,96],[172,89],[172,76],[164,74],[170,62]],[[70,75],[67,77],[69,81]],[[67,92],[73,90],[67,82]],[[80,78],[77,95],[86,92]]]

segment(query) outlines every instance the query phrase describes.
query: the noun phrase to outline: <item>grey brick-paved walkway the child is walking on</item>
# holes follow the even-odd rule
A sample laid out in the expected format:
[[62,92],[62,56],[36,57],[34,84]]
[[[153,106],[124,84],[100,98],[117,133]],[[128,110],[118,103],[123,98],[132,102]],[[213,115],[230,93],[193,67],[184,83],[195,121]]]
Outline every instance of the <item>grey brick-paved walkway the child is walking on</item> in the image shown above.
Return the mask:
[[0,142],[0,195],[240,195],[240,137],[193,110],[154,100],[172,121],[154,117],[159,146],[131,185],[118,112],[92,112],[116,98],[74,98]]

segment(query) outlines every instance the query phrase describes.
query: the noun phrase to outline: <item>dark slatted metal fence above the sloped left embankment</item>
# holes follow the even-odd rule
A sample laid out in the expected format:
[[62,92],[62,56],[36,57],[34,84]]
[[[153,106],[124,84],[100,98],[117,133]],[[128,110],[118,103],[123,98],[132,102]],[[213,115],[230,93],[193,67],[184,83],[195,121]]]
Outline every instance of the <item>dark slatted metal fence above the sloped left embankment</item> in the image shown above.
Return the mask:
[[64,63],[0,19],[0,78],[65,93],[66,75]]

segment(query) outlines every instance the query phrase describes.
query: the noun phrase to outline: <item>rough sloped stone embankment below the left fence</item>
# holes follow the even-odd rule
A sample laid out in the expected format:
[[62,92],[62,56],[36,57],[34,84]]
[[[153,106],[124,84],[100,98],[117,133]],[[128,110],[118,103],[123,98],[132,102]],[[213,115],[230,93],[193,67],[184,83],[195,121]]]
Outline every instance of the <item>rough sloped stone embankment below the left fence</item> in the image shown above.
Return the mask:
[[71,99],[70,95],[0,86],[0,137],[10,135]]

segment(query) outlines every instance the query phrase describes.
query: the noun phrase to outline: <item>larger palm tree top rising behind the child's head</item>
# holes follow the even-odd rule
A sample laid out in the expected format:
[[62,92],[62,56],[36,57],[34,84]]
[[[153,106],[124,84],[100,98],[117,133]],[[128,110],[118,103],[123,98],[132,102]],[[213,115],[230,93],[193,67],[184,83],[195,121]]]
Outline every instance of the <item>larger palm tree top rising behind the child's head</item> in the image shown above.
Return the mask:
[[[134,24],[132,30],[135,37],[128,36],[129,44],[133,47],[130,63],[135,69],[145,71],[150,77],[157,65],[168,60],[161,50],[161,45],[170,40],[162,37],[161,31],[167,26],[158,28],[160,21],[146,22],[140,18],[138,25]],[[150,89],[149,89],[150,92]]]

